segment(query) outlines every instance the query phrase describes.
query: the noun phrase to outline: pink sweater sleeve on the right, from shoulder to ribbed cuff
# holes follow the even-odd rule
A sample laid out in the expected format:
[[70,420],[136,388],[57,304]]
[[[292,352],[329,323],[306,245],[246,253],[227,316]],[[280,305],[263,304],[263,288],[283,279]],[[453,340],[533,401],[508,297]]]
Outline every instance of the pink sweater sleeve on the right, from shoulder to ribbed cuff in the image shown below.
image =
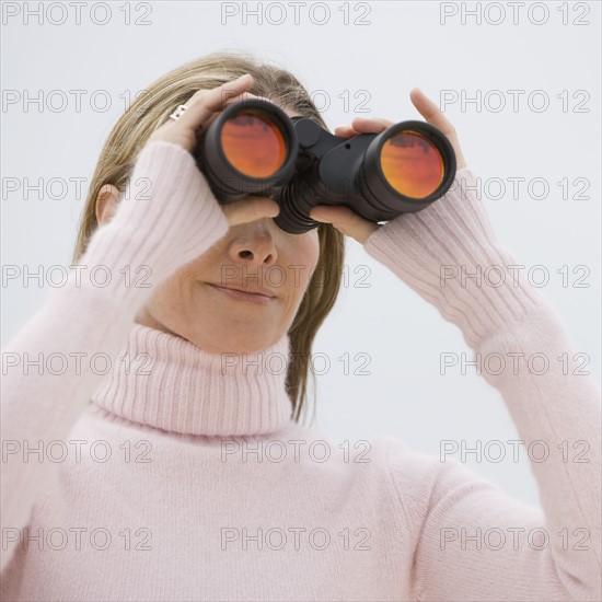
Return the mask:
[[600,391],[554,311],[516,277],[518,262],[496,240],[472,171],[459,171],[454,184],[375,231],[366,250],[461,328],[522,451],[531,449],[542,509],[456,461],[408,461],[392,450],[414,528],[414,599],[599,601]]

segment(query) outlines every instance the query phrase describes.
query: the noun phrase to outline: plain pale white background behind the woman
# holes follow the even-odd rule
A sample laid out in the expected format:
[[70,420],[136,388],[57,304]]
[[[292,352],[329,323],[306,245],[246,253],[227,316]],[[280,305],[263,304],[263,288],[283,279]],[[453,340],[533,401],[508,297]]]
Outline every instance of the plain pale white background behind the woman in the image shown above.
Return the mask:
[[[24,12],[10,16],[3,5],[2,26],[2,264],[35,267],[68,266],[77,232],[85,186],[79,197],[71,186],[63,198],[60,187],[53,200],[36,192],[25,198],[22,192],[7,190],[8,178],[90,178],[103,142],[131,97],[157,78],[178,65],[220,49],[245,49],[291,70],[314,94],[316,102],[329,99],[323,112],[331,129],[351,121],[357,103],[369,95],[368,114],[393,120],[421,118],[409,101],[414,86],[440,102],[442,91],[464,91],[474,97],[500,91],[507,104],[498,107],[499,94],[489,94],[489,105],[445,107],[474,172],[483,181],[501,178],[507,184],[502,198],[485,198],[487,211],[501,243],[526,268],[544,266],[549,282],[540,289],[562,317],[576,351],[590,357],[586,367],[600,382],[600,4],[539,2],[528,12],[519,5],[517,24],[507,3],[482,2],[482,22],[466,16],[475,2],[350,2],[349,23],[339,10],[344,2],[329,2],[324,9],[306,2],[300,8],[300,22],[287,3],[251,2],[262,8],[257,16],[224,20],[222,11],[236,8],[219,2],[131,2],[131,23],[125,24],[125,2],[111,2],[106,25],[94,24],[91,12],[82,9],[81,24],[74,9],[62,24],[55,9],[27,20]],[[99,3],[90,3],[99,4]],[[21,5],[21,10],[25,8]],[[62,3],[69,9],[68,3]],[[31,2],[30,9],[37,9]],[[500,13],[500,7],[505,14]],[[287,10],[282,13],[280,9]],[[313,12],[310,11],[310,8]],[[96,20],[105,12],[99,8]],[[442,22],[442,12],[456,11]],[[547,20],[545,14],[547,11]],[[285,15],[285,22],[276,24]],[[310,19],[313,18],[314,22]],[[500,16],[502,18],[500,20]],[[563,20],[567,18],[568,23]],[[135,24],[141,20],[149,24]],[[494,24],[500,20],[499,24]],[[271,23],[269,22],[271,21]],[[317,24],[317,22],[323,24]],[[357,21],[357,23],[355,23]],[[544,22],[545,21],[545,22]],[[578,25],[576,22],[584,23]],[[366,23],[366,24],[360,24]],[[541,23],[541,24],[537,24]],[[589,23],[589,24],[588,24]],[[46,104],[24,106],[23,97],[65,91],[68,105],[55,111]],[[72,90],[84,90],[78,112]],[[509,90],[522,90],[518,111],[512,109]],[[536,111],[543,91],[549,100],[546,111]],[[9,91],[18,94],[8,104]],[[95,91],[107,91],[108,111],[95,109],[90,99]],[[350,106],[340,94],[348,91]],[[361,92],[366,91],[366,92]],[[567,91],[568,106],[559,94]],[[578,92],[584,91],[584,92]],[[356,99],[354,95],[357,94]],[[575,97],[574,97],[574,94]],[[103,96],[96,96],[97,108]],[[580,101],[586,100],[579,105]],[[58,105],[58,109],[56,106]],[[581,106],[587,112],[577,113]],[[547,198],[533,198],[522,184],[512,198],[509,177],[545,178]],[[580,187],[575,178],[587,178],[589,198],[574,198]],[[570,183],[569,198],[563,199],[556,184]],[[58,190],[58,192],[57,192]],[[491,196],[498,193],[491,188]],[[315,354],[331,358],[329,371],[317,379],[317,427],[338,441],[370,440],[391,435],[409,447],[438,456],[441,440],[517,440],[501,395],[483,377],[468,368],[440,374],[442,351],[471,358],[460,331],[392,273],[367,255],[361,245],[347,242],[349,286],[341,290],[334,312],[324,324],[314,346]],[[367,266],[367,267],[361,267]],[[588,288],[564,287],[560,274],[568,266],[569,283],[582,274],[571,270],[586,266],[582,280]],[[354,270],[357,271],[355,273]],[[360,275],[369,273],[368,288],[359,288]],[[540,281],[542,271],[537,276]],[[35,280],[28,287],[11,281],[2,289],[2,345],[44,303],[48,287]],[[337,358],[349,354],[351,369],[356,354],[369,354],[370,375],[344,374]],[[316,368],[322,363],[316,362]],[[578,409],[576,408],[576,412]],[[500,463],[470,455],[467,464],[483,477],[499,484],[516,498],[537,503],[535,482],[524,450],[516,464],[511,449]],[[454,456],[461,460],[459,455]]]

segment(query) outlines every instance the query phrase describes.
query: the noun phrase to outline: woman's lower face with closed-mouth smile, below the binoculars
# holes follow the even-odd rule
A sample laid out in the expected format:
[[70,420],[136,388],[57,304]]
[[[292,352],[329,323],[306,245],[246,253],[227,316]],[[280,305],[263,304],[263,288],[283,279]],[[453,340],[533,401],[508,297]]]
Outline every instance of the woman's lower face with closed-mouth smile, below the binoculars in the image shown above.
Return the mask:
[[[164,280],[136,322],[212,354],[265,349],[290,328],[319,254],[316,229],[289,234],[271,218],[233,225],[209,251]],[[234,288],[269,298],[240,294]]]

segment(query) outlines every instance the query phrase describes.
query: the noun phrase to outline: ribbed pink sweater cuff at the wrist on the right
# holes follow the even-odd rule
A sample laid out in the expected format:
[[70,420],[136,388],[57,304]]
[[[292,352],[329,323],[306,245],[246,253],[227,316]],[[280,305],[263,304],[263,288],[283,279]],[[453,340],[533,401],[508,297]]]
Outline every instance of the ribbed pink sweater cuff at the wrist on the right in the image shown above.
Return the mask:
[[475,190],[471,169],[459,170],[442,198],[364,242],[368,254],[456,324],[472,348],[545,303],[499,245]]

